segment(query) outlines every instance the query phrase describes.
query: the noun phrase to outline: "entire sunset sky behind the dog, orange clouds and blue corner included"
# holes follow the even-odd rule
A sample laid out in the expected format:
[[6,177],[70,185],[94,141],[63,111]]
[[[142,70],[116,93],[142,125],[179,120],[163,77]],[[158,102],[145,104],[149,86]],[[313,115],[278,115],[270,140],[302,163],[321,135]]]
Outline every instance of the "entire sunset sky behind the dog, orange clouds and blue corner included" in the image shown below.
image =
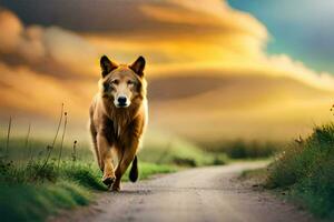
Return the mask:
[[198,140],[307,133],[332,118],[334,72],[330,6],[305,2],[1,0],[2,131],[13,115],[18,129],[32,121],[37,134],[52,132],[65,103],[73,134],[84,134],[99,58],[141,54],[149,131]]

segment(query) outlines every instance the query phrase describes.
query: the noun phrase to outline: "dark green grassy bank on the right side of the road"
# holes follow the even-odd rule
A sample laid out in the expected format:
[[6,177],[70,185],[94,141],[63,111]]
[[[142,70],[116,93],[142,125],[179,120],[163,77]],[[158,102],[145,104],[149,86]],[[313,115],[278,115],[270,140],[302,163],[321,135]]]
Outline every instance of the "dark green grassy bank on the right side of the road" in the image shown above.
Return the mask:
[[315,215],[334,220],[334,124],[288,145],[269,167],[265,185],[286,189]]

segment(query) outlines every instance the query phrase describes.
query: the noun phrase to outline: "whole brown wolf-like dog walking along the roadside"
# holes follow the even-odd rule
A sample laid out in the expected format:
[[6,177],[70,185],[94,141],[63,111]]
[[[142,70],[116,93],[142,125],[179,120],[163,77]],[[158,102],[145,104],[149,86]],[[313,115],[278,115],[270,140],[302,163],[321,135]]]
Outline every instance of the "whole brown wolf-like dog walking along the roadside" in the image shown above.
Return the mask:
[[118,65],[104,56],[100,65],[100,90],[89,110],[90,132],[102,182],[119,191],[120,179],[131,162],[129,178],[132,182],[138,178],[136,154],[147,124],[145,59]]

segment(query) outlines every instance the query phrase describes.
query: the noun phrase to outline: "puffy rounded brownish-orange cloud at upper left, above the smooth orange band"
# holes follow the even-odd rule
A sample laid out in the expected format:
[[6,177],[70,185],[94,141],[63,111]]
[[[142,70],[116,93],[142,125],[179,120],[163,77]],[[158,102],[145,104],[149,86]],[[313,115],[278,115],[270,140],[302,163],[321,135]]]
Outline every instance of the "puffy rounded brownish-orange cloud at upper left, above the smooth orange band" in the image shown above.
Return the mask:
[[95,73],[98,58],[95,48],[69,30],[24,27],[16,14],[4,9],[0,10],[0,28],[7,30],[0,33],[0,58],[8,63],[24,64],[59,77],[68,72]]

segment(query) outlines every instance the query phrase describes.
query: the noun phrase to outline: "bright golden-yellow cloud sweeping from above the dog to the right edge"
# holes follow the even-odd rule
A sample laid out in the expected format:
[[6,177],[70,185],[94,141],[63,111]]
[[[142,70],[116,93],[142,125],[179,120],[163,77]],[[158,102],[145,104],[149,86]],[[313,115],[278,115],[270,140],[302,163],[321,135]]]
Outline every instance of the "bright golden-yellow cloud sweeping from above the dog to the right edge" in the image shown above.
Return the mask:
[[[137,4],[125,9],[134,6]],[[313,71],[286,54],[267,54],[271,34],[266,28],[225,1],[140,1],[138,6],[141,16],[150,18],[150,23],[159,23],[159,29],[134,34],[128,29],[87,33],[86,39],[99,52],[107,51],[115,58],[131,60],[138,52],[147,54],[149,73],[155,77],[215,68],[222,71],[217,73],[287,77],[334,91],[331,73]]]

